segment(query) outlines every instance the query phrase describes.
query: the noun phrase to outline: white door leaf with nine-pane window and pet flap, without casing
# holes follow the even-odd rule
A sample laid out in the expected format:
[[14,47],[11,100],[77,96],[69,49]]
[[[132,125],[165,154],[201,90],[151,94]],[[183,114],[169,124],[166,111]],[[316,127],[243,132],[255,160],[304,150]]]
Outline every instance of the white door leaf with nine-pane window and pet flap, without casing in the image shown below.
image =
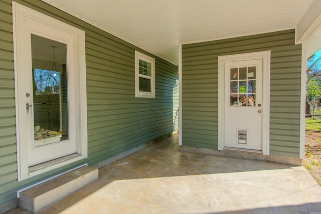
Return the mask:
[[225,147],[262,150],[262,60],[227,62]]

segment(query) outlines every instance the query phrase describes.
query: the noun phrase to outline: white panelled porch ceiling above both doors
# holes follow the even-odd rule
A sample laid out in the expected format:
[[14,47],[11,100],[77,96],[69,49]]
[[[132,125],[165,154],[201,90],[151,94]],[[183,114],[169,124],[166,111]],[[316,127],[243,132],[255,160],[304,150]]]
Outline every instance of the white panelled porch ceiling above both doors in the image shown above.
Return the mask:
[[294,29],[313,0],[42,0],[173,64],[179,44]]

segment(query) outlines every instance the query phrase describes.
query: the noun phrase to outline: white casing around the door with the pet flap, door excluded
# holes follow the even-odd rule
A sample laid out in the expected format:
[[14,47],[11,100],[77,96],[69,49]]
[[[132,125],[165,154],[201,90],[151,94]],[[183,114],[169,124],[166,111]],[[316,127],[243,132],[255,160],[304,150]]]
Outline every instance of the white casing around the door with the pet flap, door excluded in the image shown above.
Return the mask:
[[225,142],[225,96],[224,71],[227,62],[262,60],[262,153],[270,153],[270,57],[271,51],[252,52],[218,57],[218,150],[224,149]]

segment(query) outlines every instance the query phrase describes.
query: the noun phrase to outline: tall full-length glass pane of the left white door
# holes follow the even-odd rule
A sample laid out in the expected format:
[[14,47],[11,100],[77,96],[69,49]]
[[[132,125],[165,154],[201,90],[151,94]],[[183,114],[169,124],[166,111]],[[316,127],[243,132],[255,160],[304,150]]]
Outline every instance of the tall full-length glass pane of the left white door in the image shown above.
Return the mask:
[[68,137],[66,44],[31,35],[35,146]]

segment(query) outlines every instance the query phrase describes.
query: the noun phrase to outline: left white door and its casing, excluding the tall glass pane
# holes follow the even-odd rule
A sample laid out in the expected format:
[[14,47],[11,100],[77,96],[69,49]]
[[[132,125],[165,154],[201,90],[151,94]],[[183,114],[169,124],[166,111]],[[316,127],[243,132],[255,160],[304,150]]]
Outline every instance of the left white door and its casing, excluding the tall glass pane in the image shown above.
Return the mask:
[[[18,180],[23,180],[87,157],[85,37],[83,31],[15,2],[13,15]],[[35,145],[32,61],[32,36],[35,35],[66,46],[68,139],[46,145]],[[61,111],[61,106],[58,108]],[[61,120],[61,113],[57,117]],[[32,165],[73,153],[78,155],[57,164],[45,164],[39,170],[29,171]]]

